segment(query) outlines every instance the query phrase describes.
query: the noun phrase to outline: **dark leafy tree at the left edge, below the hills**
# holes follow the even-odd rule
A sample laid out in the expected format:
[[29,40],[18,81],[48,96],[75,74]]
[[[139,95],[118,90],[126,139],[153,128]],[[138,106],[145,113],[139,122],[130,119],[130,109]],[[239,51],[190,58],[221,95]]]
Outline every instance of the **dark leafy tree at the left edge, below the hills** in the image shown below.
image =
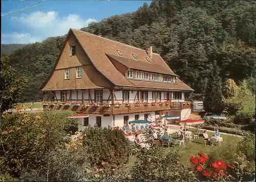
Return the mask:
[[24,76],[17,77],[16,73],[10,65],[9,57],[1,56],[1,114],[16,104],[24,94],[28,80]]

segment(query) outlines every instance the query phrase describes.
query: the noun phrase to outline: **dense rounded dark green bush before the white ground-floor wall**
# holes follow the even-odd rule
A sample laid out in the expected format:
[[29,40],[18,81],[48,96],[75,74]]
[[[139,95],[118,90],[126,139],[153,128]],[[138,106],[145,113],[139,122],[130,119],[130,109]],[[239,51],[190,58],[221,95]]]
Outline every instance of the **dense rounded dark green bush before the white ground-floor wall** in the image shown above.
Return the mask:
[[83,133],[83,145],[88,148],[89,160],[92,166],[102,162],[111,165],[112,169],[129,161],[130,145],[121,130],[110,128],[88,127]]

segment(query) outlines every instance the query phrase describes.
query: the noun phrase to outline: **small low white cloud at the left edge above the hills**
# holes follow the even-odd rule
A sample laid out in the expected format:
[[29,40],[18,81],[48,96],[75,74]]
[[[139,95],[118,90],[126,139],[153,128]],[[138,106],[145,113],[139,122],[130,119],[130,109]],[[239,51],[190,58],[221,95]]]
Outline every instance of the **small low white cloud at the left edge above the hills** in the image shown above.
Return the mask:
[[8,44],[8,43],[33,43],[33,42],[40,42],[42,41],[39,37],[31,37],[28,33],[2,33],[1,35],[1,43]]

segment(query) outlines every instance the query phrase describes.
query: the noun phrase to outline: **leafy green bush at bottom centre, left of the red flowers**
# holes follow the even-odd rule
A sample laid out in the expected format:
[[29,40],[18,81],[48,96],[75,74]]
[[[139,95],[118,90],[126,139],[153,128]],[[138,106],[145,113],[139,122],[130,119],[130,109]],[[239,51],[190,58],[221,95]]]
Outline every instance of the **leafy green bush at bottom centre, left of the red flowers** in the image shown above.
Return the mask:
[[165,154],[160,146],[139,150],[131,171],[133,181],[198,181],[180,162],[177,151]]

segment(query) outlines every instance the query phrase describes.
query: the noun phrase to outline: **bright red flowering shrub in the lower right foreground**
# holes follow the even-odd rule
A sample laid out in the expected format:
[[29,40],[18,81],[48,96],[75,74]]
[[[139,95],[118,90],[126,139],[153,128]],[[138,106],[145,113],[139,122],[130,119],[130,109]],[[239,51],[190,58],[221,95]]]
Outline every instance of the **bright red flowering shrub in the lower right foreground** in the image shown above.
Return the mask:
[[205,162],[208,160],[209,157],[202,152],[198,153],[198,157],[190,157],[190,162],[195,166],[195,170],[199,176],[210,180],[220,180],[232,177],[229,175],[230,170],[233,169],[230,164],[226,165],[223,160],[215,160],[207,167]]

